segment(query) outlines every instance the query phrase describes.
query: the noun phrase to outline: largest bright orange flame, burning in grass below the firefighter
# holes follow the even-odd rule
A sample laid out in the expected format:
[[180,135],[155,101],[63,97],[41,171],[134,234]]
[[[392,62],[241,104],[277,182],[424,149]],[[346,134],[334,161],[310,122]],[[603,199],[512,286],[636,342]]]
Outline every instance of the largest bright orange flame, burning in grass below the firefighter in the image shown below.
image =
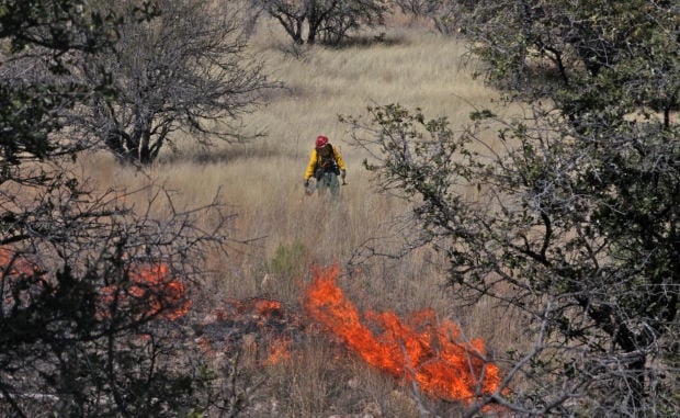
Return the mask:
[[372,310],[362,318],[337,286],[337,276],[338,266],[315,268],[304,306],[369,364],[397,379],[415,381],[426,393],[447,400],[471,403],[498,389],[499,370],[484,359],[481,340],[458,341],[457,326],[451,320],[438,321],[429,309],[407,320],[392,312]]

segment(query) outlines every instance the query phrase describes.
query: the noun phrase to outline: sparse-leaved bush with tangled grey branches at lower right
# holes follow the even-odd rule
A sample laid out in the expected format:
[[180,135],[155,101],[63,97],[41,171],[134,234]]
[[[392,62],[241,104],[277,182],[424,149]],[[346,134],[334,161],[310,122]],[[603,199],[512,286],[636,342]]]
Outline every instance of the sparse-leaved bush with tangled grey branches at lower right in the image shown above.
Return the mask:
[[[659,158],[678,151],[661,139],[664,125],[608,137],[612,145],[604,149],[587,137],[562,136],[567,122],[536,110],[531,122],[501,131],[503,151],[481,152],[471,148],[479,140],[474,128],[456,135],[444,118],[428,121],[399,105],[370,114],[373,123],[348,122],[355,143],[373,152],[365,166],[377,174],[379,190],[415,204],[410,222],[420,227],[403,250],[431,245],[444,251],[449,266],[442,268],[461,307],[491,297],[532,318],[532,347],[507,353],[500,388],[469,416],[489,403],[530,416],[677,413],[672,377],[662,377],[677,375],[671,341],[679,332],[673,318],[680,289],[670,256],[677,197],[656,195],[642,180],[654,178],[664,189],[680,181],[677,161]],[[632,160],[624,162],[620,152]],[[613,160],[611,177],[587,174],[593,161]],[[625,211],[646,210],[624,210],[614,204],[619,192],[601,188],[604,178],[628,170],[637,173],[628,179],[647,184],[641,193],[669,208],[655,212],[659,218],[649,224],[631,215],[624,226]],[[462,193],[475,184],[477,195]],[[644,238],[648,228],[654,242]],[[647,244],[631,245],[638,240]]]

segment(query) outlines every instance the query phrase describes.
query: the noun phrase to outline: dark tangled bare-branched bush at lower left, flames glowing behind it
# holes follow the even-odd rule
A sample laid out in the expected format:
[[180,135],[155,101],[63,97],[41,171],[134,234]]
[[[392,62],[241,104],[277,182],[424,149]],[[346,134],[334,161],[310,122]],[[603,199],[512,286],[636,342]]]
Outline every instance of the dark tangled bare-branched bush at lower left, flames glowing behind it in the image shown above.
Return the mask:
[[[161,189],[87,190],[65,172],[33,190],[3,184],[0,211],[0,391],[13,415],[158,415],[191,407],[181,361],[202,255],[224,248],[230,215],[215,202],[172,210]],[[207,213],[213,227],[196,227]],[[11,222],[8,222],[11,221]],[[170,396],[170,397],[168,397]],[[197,405],[196,405],[197,406]]]

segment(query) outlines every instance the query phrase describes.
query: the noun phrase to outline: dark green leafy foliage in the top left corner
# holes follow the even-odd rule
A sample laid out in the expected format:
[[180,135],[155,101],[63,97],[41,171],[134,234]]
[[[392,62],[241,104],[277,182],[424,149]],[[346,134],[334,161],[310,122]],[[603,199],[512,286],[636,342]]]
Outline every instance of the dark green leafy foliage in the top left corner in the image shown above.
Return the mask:
[[87,89],[66,76],[73,53],[104,48],[115,39],[113,18],[90,14],[79,0],[2,1],[0,39],[3,45],[0,83],[0,183],[14,178],[20,160],[71,154],[78,142],[57,142],[49,135],[61,126],[59,112],[72,108]]

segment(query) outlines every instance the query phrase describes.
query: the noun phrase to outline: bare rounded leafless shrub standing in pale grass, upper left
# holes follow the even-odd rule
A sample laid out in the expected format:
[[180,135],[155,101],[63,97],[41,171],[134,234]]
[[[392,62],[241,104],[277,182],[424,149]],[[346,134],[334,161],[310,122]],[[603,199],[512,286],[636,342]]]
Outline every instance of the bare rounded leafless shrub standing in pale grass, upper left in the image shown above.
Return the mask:
[[[109,88],[68,123],[122,160],[139,163],[154,161],[180,138],[203,146],[215,138],[245,140],[249,135],[239,129],[238,117],[277,86],[245,50],[256,18],[238,2],[158,0],[155,15],[138,20],[137,3],[105,7],[126,16],[120,39],[80,63],[79,78],[97,86],[103,76]],[[188,135],[177,135],[182,131]]]

